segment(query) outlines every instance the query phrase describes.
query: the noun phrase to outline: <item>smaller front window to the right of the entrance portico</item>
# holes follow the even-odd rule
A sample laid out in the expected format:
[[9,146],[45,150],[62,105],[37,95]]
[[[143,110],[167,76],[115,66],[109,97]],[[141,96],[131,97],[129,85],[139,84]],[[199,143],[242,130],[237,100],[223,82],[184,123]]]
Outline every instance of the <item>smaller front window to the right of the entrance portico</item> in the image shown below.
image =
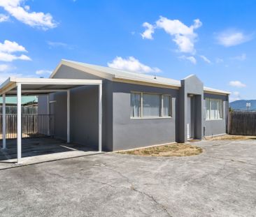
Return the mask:
[[222,119],[222,100],[206,98],[206,119]]

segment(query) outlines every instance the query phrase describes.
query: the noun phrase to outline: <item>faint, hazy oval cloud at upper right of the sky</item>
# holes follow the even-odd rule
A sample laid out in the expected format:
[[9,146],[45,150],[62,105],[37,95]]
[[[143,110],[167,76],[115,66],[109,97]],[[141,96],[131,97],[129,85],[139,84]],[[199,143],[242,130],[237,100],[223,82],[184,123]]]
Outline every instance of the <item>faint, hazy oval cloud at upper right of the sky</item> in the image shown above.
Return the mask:
[[252,35],[245,35],[241,31],[234,30],[222,31],[221,33],[218,33],[218,36],[216,37],[218,43],[225,47],[240,45],[242,43],[246,43],[252,38]]

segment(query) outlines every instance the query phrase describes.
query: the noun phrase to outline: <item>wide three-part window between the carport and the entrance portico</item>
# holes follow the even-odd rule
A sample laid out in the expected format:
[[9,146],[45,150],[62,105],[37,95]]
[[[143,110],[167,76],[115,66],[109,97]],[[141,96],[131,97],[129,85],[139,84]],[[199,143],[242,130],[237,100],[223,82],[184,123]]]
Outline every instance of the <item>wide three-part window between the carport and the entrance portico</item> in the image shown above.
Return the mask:
[[131,117],[171,117],[171,96],[131,93]]

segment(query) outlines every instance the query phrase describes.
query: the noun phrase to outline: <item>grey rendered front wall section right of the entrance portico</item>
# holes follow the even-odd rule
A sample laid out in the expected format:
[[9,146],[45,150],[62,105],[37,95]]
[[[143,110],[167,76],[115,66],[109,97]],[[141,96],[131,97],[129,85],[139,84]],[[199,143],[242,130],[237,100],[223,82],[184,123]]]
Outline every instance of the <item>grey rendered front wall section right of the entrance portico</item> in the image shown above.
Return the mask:
[[[206,98],[216,98],[221,99],[223,101],[223,118],[220,120],[206,120],[206,106],[205,99]],[[204,93],[204,128],[205,128],[205,136],[211,135],[220,135],[227,133],[227,111],[228,111],[228,97]]]

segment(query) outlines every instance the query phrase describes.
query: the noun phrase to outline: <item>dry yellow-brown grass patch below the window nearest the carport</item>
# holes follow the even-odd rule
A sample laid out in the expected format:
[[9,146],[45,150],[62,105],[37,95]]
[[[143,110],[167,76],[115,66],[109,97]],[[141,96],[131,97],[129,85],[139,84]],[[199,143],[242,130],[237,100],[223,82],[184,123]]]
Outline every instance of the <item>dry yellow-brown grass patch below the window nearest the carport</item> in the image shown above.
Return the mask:
[[130,151],[118,151],[118,154],[132,154],[138,156],[193,156],[201,154],[203,150],[191,144],[166,144],[157,147],[134,149]]

